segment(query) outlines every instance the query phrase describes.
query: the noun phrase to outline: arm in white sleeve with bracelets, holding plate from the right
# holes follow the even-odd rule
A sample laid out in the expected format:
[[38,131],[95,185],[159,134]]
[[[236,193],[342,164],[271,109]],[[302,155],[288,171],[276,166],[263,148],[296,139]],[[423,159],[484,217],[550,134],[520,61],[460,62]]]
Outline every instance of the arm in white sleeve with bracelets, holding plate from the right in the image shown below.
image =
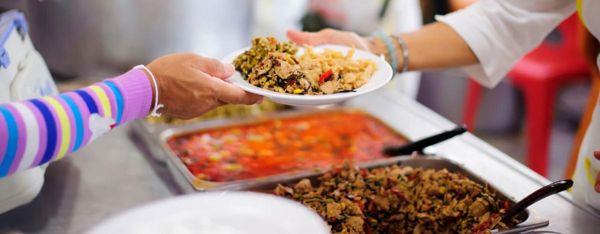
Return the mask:
[[[482,85],[493,87],[574,11],[575,1],[482,0],[400,37],[409,50],[409,69],[460,67]],[[328,29],[314,34],[289,31],[287,35],[298,44],[354,44],[373,53],[388,53],[379,39],[370,43],[350,32]],[[402,54],[395,43],[397,53]],[[402,68],[404,61],[398,57],[398,68]]]

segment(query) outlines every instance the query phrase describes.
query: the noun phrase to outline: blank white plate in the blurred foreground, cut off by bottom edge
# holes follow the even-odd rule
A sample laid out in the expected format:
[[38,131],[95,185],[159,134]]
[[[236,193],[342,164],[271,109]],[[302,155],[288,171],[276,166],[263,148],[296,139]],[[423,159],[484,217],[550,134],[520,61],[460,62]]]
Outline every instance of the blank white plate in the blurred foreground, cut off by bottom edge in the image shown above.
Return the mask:
[[149,203],[88,232],[329,234],[325,221],[290,199],[251,192],[196,193]]

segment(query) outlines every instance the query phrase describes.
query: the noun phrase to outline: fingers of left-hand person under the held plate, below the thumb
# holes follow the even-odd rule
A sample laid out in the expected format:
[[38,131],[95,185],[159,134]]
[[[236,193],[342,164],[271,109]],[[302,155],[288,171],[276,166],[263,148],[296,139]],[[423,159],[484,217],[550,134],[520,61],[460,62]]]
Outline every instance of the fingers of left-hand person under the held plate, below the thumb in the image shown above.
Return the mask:
[[245,92],[238,86],[227,83],[223,80],[213,80],[214,93],[219,101],[227,102],[228,104],[245,104],[252,105],[262,102],[263,97],[254,93]]

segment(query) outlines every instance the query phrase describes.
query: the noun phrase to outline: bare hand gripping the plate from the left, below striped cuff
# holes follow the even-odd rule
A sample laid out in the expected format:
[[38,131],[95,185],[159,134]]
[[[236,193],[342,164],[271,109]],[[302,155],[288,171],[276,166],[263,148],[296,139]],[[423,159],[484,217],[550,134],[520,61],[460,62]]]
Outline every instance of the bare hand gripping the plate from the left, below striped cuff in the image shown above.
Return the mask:
[[157,80],[158,103],[164,105],[158,112],[166,116],[190,119],[225,104],[262,102],[262,96],[224,81],[235,68],[217,59],[193,53],[169,54],[146,67]]

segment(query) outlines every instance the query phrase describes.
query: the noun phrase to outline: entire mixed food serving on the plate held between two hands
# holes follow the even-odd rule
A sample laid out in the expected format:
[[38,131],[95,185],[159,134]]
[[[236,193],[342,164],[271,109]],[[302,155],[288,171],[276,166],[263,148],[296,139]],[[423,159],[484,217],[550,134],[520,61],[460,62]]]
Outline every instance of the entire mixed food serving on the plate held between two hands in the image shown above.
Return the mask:
[[233,60],[242,77],[253,86],[279,93],[323,95],[355,92],[367,84],[377,70],[370,59],[352,59],[355,48],[347,54],[325,48],[314,51],[307,45],[304,54],[293,42],[278,43],[274,38],[255,38],[250,50]]

